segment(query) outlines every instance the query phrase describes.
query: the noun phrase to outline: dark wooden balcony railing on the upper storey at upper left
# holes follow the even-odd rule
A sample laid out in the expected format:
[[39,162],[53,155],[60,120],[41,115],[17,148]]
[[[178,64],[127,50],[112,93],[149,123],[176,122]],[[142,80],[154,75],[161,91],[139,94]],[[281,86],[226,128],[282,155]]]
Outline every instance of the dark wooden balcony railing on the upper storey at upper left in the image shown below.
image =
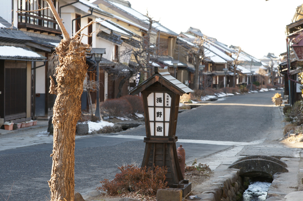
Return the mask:
[[27,30],[48,32],[57,35],[62,34],[55,20],[28,13],[18,14],[18,28],[26,28]]

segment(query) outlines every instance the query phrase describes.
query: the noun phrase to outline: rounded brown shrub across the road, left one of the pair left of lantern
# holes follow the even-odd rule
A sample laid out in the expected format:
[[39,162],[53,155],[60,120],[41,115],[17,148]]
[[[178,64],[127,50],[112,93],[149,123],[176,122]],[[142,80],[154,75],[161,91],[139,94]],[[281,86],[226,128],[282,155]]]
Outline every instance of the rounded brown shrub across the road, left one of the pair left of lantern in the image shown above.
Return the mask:
[[101,107],[108,113],[109,118],[125,116],[132,112],[131,104],[122,98],[106,100]]

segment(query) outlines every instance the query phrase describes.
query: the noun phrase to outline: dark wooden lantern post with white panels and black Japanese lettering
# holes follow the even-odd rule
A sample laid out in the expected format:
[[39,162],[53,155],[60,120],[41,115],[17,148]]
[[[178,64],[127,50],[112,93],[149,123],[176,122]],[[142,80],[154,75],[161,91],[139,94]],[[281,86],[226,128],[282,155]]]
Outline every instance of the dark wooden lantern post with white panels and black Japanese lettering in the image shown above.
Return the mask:
[[166,181],[172,188],[181,188],[183,196],[191,191],[191,183],[181,174],[176,142],[180,96],[192,90],[170,75],[167,67],[158,69],[140,85],[129,91],[142,93],[145,115],[146,137],[142,167],[154,169],[166,166]]

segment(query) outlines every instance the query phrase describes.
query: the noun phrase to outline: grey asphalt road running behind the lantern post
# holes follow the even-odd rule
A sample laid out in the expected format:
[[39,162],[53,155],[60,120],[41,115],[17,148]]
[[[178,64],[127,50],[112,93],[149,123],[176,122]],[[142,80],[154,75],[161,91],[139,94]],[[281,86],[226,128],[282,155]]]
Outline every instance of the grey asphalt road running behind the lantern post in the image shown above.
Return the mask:
[[[227,97],[178,116],[176,136],[188,139],[182,143],[187,160],[201,158],[231,148],[225,141],[252,142],[264,139],[273,129],[271,97],[277,91]],[[96,135],[76,140],[75,190],[83,193],[100,186],[99,181],[113,179],[118,165],[142,162],[142,140],[131,136],[145,136],[141,126],[119,133],[125,138]],[[197,140],[220,141],[220,145]],[[223,141],[223,142],[221,142]],[[177,142],[177,146],[180,142]],[[47,181],[50,179],[52,144],[40,144],[0,151],[0,201],[49,200]],[[206,161],[207,163],[207,161]],[[12,189],[12,190],[11,190]],[[11,192],[10,192],[11,191]]]

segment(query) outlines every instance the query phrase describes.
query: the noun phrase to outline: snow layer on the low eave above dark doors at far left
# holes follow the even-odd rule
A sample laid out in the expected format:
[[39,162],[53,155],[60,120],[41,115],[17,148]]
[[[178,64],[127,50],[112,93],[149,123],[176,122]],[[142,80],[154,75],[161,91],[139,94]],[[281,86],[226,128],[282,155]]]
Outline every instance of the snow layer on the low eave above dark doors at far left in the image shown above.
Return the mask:
[[[44,56],[22,47],[0,46],[0,57],[20,59],[45,59]],[[16,58],[16,59],[18,59]]]

